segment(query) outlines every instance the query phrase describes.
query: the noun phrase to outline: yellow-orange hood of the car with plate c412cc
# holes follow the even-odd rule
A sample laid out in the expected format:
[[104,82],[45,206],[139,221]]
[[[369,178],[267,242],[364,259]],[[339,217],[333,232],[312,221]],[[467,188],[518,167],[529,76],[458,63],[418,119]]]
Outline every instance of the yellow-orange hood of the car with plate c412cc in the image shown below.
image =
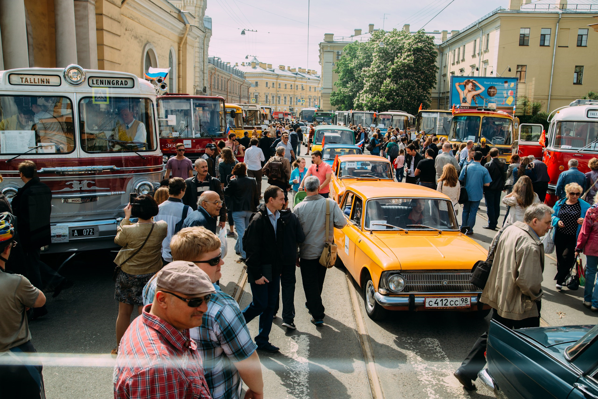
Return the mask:
[[388,248],[396,255],[401,270],[471,270],[475,262],[486,260],[488,255],[474,240],[453,232],[385,232],[374,233],[373,237],[383,251]]

